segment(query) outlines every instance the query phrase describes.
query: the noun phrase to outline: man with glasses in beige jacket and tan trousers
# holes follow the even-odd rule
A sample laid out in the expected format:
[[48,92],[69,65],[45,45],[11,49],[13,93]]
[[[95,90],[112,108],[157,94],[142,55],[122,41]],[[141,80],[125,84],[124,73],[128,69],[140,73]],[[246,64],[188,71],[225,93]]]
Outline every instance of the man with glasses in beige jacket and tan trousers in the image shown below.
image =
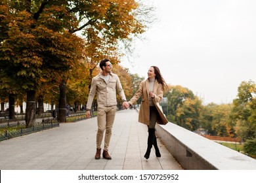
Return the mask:
[[128,108],[129,103],[127,103],[126,101],[125,93],[123,92],[119,77],[114,73],[111,73],[112,64],[110,63],[110,60],[102,59],[100,61],[100,69],[102,71],[97,76],[95,76],[91,82],[91,90],[87,101],[85,115],[87,116],[87,118],[91,116],[91,105],[93,103],[93,98],[95,97],[96,93],[98,104],[98,131],[96,134],[95,159],[100,159],[101,143],[105,129],[106,133],[104,138],[104,149],[102,156],[105,159],[112,159],[111,156],[108,154],[108,146],[110,144],[112,126],[114,124],[114,119],[116,115],[116,92],[119,93],[123,101],[124,108]]

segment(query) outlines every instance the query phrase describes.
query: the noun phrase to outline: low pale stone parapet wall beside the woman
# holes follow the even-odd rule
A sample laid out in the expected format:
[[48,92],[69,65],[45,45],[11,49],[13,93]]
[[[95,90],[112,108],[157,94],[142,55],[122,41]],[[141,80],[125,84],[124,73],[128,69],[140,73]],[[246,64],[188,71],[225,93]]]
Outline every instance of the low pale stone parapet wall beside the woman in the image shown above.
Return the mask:
[[192,131],[168,123],[156,125],[156,135],[188,170],[252,170],[256,160],[211,141]]

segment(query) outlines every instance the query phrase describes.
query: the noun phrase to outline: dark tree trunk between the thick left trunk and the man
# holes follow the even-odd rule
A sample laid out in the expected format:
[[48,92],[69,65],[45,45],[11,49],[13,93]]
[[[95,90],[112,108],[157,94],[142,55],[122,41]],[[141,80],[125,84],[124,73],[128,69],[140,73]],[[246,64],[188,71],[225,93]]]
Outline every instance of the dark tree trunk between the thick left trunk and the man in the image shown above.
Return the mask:
[[62,83],[60,84],[60,99],[58,103],[58,121],[60,123],[66,122],[66,81],[62,80]]

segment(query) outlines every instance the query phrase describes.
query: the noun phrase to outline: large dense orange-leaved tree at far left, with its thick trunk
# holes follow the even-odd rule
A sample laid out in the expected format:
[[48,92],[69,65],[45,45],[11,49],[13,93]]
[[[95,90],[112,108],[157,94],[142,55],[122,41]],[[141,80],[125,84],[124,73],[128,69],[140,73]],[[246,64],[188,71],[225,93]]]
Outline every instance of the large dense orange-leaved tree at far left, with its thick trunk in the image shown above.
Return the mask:
[[75,23],[67,22],[72,17],[63,2],[4,1],[9,16],[3,19],[12,19],[0,48],[1,88],[10,94],[27,92],[27,126],[35,122],[37,90],[51,80],[61,84],[81,58],[83,41],[68,31]]

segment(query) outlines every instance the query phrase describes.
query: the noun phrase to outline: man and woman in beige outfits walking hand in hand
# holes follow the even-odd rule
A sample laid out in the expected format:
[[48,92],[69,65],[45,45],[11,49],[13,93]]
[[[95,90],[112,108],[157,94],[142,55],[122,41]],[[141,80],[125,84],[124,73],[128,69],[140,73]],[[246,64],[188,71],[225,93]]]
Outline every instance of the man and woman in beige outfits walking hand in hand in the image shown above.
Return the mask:
[[97,123],[98,131],[96,134],[96,154],[95,159],[100,159],[101,144],[104,131],[104,148],[102,157],[105,159],[112,159],[108,154],[108,146],[112,135],[112,126],[116,114],[116,93],[119,94],[123,101],[123,108],[129,108],[142,95],[139,110],[139,122],[148,125],[148,148],[144,158],[150,157],[152,146],[156,150],[156,156],[161,157],[160,150],[156,141],[155,126],[158,124],[167,124],[167,119],[160,109],[160,101],[163,98],[163,91],[167,89],[167,84],[161,76],[160,70],[156,66],[148,69],[148,78],[140,83],[139,90],[133,97],[127,101],[119,77],[112,73],[112,64],[109,59],[102,59],[100,61],[100,69],[102,70],[95,76],[91,82],[91,90],[87,101],[87,108],[85,115],[87,118],[91,116],[91,105],[93,99],[97,97]]

